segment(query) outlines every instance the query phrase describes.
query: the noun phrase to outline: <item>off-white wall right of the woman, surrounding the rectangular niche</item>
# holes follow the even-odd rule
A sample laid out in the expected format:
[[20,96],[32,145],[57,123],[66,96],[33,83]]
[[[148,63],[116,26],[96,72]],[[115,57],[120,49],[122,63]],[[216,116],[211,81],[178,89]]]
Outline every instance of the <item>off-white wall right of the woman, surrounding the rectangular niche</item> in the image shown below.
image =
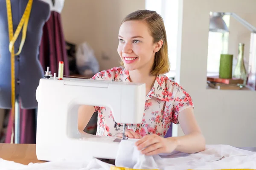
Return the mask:
[[[255,17],[256,1],[180,0],[179,8],[176,80],[193,97],[195,116],[207,144],[256,147],[256,91],[206,89],[209,12],[229,11]],[[237,46],[237,42],[230,45]],[[236,50],[231,52],[237,54]],[[180,135],[183,133],[178,126]]]

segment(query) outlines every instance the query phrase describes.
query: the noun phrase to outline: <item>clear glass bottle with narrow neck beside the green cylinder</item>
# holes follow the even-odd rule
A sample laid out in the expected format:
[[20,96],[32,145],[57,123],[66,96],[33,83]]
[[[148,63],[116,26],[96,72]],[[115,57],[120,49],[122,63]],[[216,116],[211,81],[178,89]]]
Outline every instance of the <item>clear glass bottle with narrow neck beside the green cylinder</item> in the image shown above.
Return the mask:
[[238,59],[233,77],[236,79],[243,79],[243,85],[246,85],[247,73],[244,66],[244,43],[241,42],[239,43]]

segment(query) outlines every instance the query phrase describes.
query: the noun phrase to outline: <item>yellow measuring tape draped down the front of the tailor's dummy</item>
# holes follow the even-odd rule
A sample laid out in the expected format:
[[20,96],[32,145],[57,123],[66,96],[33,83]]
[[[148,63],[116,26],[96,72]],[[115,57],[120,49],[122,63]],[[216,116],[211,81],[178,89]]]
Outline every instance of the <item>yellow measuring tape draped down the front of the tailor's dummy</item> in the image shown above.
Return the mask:
[[[13,143],[14,138],[14,119],[15,119],[15,55],[19,55],[24,42],[26,40],[26,31],[29,23],[29,16],[32,8],[33,0],[29,0],[29,2],[26,5],[26,9],[23,13],[23,16],[20,20],[19,25],[17,26],[17,29],[15,33],[13,34],[13,24],[12,24],[12,7],[11,7],[11,0],[6,0],[6,11],[7,11],[7,17],[8,17],[8,30],[9,30],[9,51],[11,53],[11,85],[12,85],[12,137],[11,137],[11,143]],[[22,30],[22,39],[20,42],[20,48],[19,51],[15,54],[14,52],[14,43],[17,40],[17,37],[20,34],[20,31]],[[16,108],[20,109],[20,108]]]

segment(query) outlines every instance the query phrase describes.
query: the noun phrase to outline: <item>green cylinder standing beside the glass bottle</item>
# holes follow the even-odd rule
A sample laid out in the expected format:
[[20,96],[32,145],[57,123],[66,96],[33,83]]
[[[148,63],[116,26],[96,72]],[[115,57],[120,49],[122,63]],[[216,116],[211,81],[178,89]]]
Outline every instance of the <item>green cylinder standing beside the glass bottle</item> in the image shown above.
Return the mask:
[[232,54],[221,54],[219,78],[231,79],[232,78],[232,65],[233,65],[233,55]]

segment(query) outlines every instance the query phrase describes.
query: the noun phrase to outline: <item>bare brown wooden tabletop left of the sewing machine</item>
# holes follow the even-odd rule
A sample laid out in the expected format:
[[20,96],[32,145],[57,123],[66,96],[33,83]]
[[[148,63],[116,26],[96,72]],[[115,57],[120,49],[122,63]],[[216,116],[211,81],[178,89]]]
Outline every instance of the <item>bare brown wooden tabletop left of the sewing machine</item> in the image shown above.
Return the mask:
[[0,144],[0,158],[26,165],[46,162],[37,159],[35,144]]

